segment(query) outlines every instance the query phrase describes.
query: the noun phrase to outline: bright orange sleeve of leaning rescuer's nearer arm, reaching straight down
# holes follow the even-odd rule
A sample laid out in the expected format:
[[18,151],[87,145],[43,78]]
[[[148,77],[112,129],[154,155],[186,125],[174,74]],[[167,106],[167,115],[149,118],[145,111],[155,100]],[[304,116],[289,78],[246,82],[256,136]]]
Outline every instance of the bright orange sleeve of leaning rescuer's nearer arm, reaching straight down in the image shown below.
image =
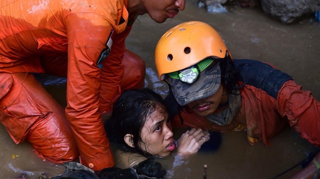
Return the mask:
[[112,26],[95,13],[73,13],[64,22],[68,34],[66,118],[79,148],[81,163],[98,171],[114,165],[101,120],[101,70],[96,66]]

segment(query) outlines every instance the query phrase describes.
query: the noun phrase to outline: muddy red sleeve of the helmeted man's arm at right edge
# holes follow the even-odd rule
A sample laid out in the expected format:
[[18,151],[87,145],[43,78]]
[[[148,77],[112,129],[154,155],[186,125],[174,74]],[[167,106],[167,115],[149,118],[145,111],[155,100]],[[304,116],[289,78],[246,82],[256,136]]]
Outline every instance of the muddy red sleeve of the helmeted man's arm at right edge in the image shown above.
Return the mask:
[[287,81],[279,91],[277,109],[302,138],[320,146],[320,102],[310,91],[303,91],[293,80]]

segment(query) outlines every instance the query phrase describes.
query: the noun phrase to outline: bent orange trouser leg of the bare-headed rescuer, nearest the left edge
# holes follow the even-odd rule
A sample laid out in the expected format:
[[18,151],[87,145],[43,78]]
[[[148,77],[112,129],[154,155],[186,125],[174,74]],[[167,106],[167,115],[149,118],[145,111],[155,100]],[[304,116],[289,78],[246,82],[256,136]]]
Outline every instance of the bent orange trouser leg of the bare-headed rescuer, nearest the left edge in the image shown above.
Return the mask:
[[13,141],[28,140],[39,157],[51,162],[76,159],[79,154],[64,109],[32,74],[10,75],[12,86],[0,99],[0,120]]

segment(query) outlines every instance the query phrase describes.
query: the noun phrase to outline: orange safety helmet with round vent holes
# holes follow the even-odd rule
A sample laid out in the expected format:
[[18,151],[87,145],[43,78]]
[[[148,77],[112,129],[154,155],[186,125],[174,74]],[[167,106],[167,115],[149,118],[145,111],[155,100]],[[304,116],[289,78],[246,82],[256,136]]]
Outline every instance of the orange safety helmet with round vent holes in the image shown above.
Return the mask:
[[188,21],[162,35],[155,47],[155,66],[163,81],[167,73],[190,67],[207,57],[224,58],[226,53],[230,55],[214,28],[201,21]]

